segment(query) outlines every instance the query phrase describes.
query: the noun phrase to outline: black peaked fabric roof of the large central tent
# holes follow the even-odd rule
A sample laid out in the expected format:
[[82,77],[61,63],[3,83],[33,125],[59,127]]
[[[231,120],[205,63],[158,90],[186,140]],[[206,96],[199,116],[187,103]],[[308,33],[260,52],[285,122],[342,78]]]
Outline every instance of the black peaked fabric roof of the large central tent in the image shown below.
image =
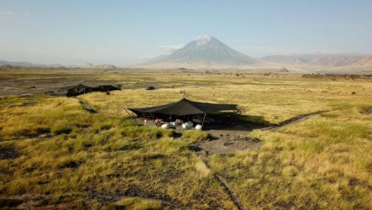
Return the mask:
[[130,108],[137,115],[141,113],[162,113],[174,116],[187,116],[202,113],[213,113],[217,111],[236,110],[237,104],[210,104],[203,102],[193,102],[188,99],[181,99],[178,102],[164,104],[161,106],[151,106],[146,108]]

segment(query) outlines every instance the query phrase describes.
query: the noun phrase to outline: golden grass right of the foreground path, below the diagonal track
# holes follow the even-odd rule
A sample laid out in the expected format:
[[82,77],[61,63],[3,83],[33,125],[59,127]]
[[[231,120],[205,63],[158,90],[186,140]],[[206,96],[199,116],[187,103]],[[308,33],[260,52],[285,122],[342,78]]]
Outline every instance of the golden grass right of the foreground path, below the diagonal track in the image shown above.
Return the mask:
[[260,151],[211,157],[245,207],[371,207],[372,116],[331,111],[252,137],[263,141]]

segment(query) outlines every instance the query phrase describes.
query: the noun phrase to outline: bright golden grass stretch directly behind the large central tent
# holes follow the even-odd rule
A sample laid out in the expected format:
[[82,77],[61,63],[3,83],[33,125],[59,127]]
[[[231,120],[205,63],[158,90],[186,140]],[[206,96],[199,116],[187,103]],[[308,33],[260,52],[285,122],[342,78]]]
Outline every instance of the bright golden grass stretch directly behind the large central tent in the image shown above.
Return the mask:
[[[199,75],[198,75],[199,76]],[[158,76],[154,76],[159,79]],[[190,80],[196,80],[190,76]],[[194,79],[192,79],[194,78]],[[186,92],[188,99],[205,102],[234,103],[244,109],[244,115],[255,120],[280,123],[288,118],[304,113],[338,109],[338,106],[357,105],[368,107],[368,97],[372,97],[368,80],[323,80],[301,78],[300,76],[253,75],[234,77],[225,75],[201,76],[206,85],[161,88],[147,91],[144,89],[114,91],[111,95],[91,93],[81,95],[96,109],[112,116],[127,116],[123,108],[154,106],[182,99]],[[164,82],[180,78],[164,78]],[[317,83],[317,86],[314,86]],[[356,91],[357,94],[351,93]],[[257,117],[257,118],[255,118]]]

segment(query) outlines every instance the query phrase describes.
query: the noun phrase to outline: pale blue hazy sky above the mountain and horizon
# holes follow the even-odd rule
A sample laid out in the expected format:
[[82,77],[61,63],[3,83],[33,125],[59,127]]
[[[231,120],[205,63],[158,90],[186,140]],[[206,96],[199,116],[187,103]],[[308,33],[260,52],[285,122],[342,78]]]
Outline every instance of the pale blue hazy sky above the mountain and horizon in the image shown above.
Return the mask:
[[372,53],[372,1],[0,0],[0,60],[123,66],[204,35],[253,57]]

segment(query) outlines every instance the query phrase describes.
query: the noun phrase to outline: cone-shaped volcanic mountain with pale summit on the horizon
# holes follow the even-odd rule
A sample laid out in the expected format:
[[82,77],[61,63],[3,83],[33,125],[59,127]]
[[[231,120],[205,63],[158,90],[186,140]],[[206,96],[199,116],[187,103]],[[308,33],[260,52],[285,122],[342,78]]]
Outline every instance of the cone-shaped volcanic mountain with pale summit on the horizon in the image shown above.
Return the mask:
[[194,40],[171,55],[157,58],[146,64],[173,64],[175,66],[243,66],[257,64],[259,61],[237,50],[229,48],[213,36]]

